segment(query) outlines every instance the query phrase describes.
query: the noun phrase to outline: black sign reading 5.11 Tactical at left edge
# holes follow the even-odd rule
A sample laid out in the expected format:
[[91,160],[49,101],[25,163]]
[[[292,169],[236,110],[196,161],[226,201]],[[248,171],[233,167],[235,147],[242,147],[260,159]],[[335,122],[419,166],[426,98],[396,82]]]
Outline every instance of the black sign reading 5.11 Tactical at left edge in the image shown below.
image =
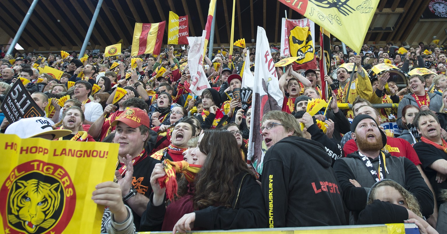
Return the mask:
[[22,118],[45,115],[20,80],[17,80],[6,94],[0,108],[9,123],[14,123]]

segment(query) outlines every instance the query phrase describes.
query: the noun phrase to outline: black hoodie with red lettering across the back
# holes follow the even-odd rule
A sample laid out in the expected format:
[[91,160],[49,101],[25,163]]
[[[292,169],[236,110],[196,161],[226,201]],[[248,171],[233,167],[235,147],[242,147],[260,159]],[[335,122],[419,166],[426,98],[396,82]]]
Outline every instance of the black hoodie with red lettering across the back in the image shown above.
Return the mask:
[[332,159],[323,145],[289,136],[264,157],[262,193],[269,227],[346,225]]

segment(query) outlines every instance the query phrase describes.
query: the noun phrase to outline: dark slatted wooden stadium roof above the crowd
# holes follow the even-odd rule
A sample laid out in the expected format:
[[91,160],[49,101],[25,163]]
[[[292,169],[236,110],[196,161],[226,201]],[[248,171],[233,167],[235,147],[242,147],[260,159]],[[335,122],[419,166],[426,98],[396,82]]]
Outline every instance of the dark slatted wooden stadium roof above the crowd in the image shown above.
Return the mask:
[[[447,21],[421,19],[429,2],[380,0],[365,43],[384,45],[406,41],[415,45],[422,41],[427,44],[434,36],[443,42],[447,38]],[[31,3],[32,0],[0,1],[0,34],[3,34],[0,43],[7,44],[14,37]],[[104,49],[121,39],[128,47],[135,22],[165,21],[169,11],[188,15],[190,36],[200,36],[205,28],[208,4],[209,0],[104,0],[87,49]],[[25,51],[79,51],[96,5],[97,0],[39,0],[18,43]],[[220,47],[229,43],[232,0],[217,0],[216,9],[214,42],[215,47]],[[256,40],[256,27],[262,26],[270,43],[279,44],[285,12],[288,18],[303,18],[276,0],[236,0],[234,40],[245,38],[251,46],[252,39]],[[167,43],[167,24],[163,42]]]

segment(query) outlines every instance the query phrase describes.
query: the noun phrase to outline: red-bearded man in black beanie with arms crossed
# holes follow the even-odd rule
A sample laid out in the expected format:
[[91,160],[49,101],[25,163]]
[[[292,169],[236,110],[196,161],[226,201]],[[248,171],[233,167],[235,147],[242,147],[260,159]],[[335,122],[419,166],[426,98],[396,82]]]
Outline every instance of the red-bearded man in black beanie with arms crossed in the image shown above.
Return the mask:
[[387,138],[374,118],[355,116],[351,132],[358,151],[338,158],[333,166],[346,208],[350,210],[350,224],[357,222],[358,213],[365,208],[371,186],[382,179],[401,184],[417,198],[422,215],[432,214],[433,194],[421,173],[408,158],[391,156],[380,150],[387,144]]

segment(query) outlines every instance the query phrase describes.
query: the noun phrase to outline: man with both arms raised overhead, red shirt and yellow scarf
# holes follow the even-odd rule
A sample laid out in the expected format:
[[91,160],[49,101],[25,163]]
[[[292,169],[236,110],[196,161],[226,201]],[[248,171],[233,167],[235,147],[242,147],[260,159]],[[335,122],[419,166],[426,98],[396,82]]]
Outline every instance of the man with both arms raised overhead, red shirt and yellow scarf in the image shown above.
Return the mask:
[[[287,80],[288,76],[293,76],[292,78]],[[287,82],[287,89],[284,88],[285,84]],[[299,96],[299,93],[301,92],[301,86],[299,85],[299,82],[301,82],[304,87],[311,87],[312,83],[306,79],[306,77],[303,77],[299,75],[297,72],[295,72],[291,66],[289,66],[284,72],[284,74],[279,78],[279,89],[283,92],[284,95],[284,101],[283,101],[283,110],[289,114],[291,114],[295,110],[295,99]],[[289,94],[289,97],[287,97],[286,92]]]

